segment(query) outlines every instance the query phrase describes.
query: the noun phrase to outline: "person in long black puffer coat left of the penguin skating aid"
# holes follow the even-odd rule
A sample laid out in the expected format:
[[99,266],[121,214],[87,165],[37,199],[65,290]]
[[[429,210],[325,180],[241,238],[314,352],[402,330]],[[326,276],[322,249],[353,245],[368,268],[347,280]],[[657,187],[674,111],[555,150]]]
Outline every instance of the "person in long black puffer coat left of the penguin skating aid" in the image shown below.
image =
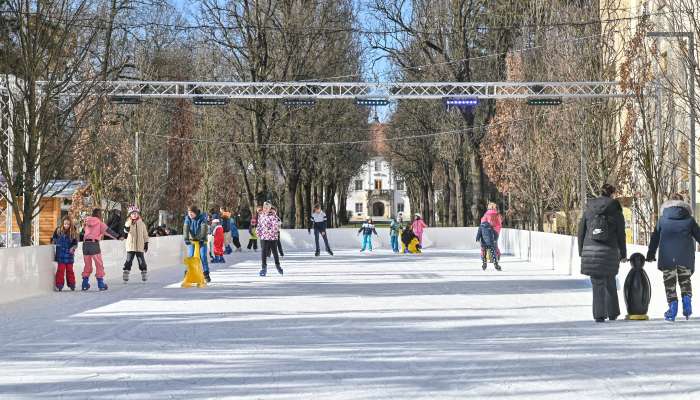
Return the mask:
[[603,185],[601,196],[588,202],[578,229],[581,273],[591,277],[596,322],[620,315],[615,276],[620,261],[627,259],[627,244],[622,206],[612,198],[614,193],[614,186]]

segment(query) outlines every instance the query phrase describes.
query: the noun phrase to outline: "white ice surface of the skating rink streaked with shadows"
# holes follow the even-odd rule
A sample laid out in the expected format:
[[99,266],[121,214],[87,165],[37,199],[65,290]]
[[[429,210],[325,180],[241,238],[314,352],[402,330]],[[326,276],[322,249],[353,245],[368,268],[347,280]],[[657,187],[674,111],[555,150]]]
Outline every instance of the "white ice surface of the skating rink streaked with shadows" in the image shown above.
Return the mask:
[[0,398],[700,399],[697,320],[595,324],[551,267],[344,250],[261,278],[257,256],[206,289],[173,267],[0,306]]

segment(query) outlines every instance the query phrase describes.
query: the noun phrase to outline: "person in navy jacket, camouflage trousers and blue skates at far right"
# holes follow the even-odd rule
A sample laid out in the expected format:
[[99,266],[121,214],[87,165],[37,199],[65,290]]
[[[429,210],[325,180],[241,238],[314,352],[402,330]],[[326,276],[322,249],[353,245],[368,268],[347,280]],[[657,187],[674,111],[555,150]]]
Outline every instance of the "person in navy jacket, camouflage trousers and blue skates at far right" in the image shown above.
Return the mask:
[[656,260],[658,249],[657,267],[664,275],[668,302],[668,311],[664,318],[672,322],[678,314],[676,282],[681,287],[683,316],[689,319],[693,313],[693,287],[690,277],[695,272],[695,242],[700,243],[700,228],[693,218],[690,204],[684,202],[680,194],[673,195],[671,200],[661,206],[661,210],[661,219],[649,242],[647,261]]

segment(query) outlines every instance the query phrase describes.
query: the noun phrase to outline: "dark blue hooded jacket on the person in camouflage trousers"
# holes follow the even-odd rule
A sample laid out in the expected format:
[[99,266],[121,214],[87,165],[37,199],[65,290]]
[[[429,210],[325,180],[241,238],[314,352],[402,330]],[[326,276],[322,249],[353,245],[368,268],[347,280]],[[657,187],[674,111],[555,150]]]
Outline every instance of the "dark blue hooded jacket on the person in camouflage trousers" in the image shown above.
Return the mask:
[[681,266],[695,272],[695,241],[700,242],[700,228],[691,215],[690,205],[672,200],[661,208],[661,219],[651,235],[647,258],[655,258],[658,249],[660,270]]

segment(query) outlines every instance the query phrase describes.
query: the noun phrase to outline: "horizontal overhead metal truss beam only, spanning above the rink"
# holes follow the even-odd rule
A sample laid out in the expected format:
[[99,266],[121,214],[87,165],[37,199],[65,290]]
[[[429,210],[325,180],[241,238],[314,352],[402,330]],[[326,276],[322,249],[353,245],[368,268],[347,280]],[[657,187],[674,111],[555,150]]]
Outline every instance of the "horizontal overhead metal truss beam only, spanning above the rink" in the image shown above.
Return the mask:
[[[84,93],[76,84],[75,94]],[[98,82],[91,92],[139,98],[218,97],[228,99],[318,100],[380,97],[389,100],[434,100],[445,97],[527,99],[561,97],[585,99],[628,97],[617,82]]]

